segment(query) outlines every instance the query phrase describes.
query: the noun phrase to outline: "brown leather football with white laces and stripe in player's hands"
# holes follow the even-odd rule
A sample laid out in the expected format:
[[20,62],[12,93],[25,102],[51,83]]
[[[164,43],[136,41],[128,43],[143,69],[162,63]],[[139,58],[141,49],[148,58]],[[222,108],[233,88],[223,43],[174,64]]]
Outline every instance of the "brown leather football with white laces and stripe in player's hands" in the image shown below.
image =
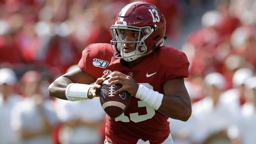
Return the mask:
[[128,107],[131,95],[122,91],[118,94],[113,94],[114,91],[122,88],[122,84],[114,84],[112,86],[108,86],[108,79],[102,83],[102,87],[100,89],[100,104],[103,110],[111,117],[117,118],[120,116]]

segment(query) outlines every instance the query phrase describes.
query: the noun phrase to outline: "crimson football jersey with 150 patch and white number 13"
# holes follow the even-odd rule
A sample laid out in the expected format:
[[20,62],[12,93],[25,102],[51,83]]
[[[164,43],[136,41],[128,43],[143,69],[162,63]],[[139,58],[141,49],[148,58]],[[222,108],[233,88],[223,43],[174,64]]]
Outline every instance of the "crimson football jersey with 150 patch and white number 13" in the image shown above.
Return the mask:
[[[91,44],[82,53],[78,66],[95,79],[106,72],[119,71],[139,84],[164,94],[164,84],[174,78],[188,77],[186,55],[172,47],[162,46],[144,56],[133,68],[114,58],[110,44]],[[106,140],[113,144],[136,144],[139,139],[160,144],[170,134],[168,117],[142,100],[131,97],[126,111],[118,118],[106,115]]]

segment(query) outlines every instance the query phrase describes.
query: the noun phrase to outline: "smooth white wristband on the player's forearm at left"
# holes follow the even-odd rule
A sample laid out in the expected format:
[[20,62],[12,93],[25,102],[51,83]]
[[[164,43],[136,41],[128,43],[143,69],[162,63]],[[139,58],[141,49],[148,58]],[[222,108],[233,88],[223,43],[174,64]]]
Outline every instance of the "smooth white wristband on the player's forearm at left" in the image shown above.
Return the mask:
[[70,101],[88,100],[88,92],[92,85],[71,83],[66,88],[66,97]]

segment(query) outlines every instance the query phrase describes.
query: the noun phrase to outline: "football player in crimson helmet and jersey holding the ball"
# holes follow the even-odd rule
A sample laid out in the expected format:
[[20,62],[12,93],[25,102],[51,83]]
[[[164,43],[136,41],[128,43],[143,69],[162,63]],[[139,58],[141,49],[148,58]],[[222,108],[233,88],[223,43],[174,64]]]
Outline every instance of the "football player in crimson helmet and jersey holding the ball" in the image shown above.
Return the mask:
[[92,99],[111,74],[109,85],[123,85],[114,94],[126,90],[133,96],[119,117],[106,115],[105,143],[172,144],[168,117],[186,121],[191,115],[183,79],[188,77],[189,62],[180,50],[163,46],[165,27],[156,6],[147,2],[126,5],[110,27],[110,44],[85,48],[79,68],[57,78],[49,86],[50,96]]

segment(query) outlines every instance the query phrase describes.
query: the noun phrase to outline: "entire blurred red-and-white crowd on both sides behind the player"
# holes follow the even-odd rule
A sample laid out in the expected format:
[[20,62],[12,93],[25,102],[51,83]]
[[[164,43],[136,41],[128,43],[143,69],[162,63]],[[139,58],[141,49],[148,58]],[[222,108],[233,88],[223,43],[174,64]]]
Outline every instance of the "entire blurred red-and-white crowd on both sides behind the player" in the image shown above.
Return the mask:
[[[110,43],[116,14],[132,1],[0,0],[0,144],[103,143],[99,100],[50,98],[48,86],[77,68],[86,46]],[[256,0],[144,1],[163,12],[167,44],[193,14],[201,19],[178,48],[190,61],[192,116],[169,119],[174,143],[253,144]],[[212,9],[205,9],[209,2]]]

